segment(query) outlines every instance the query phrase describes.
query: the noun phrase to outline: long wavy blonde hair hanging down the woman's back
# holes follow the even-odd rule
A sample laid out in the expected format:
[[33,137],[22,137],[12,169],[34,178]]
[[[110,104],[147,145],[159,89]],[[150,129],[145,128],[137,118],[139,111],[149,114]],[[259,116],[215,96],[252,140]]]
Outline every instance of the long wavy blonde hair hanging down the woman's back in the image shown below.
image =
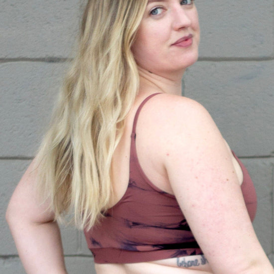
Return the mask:
[[38,189],[56,219],[91,228],[113,190],[111,161],[139,78],[131,46],[147,0],[89,0],[78,51],[37,155]]

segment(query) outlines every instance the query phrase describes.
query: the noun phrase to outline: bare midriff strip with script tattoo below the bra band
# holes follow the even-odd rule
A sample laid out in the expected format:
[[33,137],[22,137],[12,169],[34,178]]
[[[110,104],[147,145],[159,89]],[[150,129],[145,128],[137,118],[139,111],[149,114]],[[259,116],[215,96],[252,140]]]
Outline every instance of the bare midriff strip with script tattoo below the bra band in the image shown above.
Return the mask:
[[134,264],[95,264],[97,274],[213,274],[203,255]]

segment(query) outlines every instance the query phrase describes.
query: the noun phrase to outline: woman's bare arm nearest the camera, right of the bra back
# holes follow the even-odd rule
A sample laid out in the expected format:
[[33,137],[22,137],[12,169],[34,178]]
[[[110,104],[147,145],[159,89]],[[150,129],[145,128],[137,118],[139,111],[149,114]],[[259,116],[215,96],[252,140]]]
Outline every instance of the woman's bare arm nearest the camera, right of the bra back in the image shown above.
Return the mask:
[[163,163],[191,231],[216,273],[242,273],[254,260],[264,258],[264,252],[230,151],[198,103],[175,104],[168,120],[161,137]]

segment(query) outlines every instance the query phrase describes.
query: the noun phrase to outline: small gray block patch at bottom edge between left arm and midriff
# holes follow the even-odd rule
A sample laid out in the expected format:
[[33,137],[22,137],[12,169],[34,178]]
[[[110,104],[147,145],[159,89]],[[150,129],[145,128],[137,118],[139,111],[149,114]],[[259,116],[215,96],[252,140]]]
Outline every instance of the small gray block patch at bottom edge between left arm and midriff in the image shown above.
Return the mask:
[[69,274],[96,274],[91,257],[65,257],[65,264]]

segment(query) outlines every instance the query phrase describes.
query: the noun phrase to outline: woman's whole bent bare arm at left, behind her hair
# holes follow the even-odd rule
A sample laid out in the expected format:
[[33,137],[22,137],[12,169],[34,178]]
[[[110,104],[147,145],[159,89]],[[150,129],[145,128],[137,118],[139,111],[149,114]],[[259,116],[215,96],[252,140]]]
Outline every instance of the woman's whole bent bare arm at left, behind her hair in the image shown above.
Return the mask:
[[34,161],[15,188],[6,219],[26,273],[67,273],[61,235],[54,214],[36,192]]

